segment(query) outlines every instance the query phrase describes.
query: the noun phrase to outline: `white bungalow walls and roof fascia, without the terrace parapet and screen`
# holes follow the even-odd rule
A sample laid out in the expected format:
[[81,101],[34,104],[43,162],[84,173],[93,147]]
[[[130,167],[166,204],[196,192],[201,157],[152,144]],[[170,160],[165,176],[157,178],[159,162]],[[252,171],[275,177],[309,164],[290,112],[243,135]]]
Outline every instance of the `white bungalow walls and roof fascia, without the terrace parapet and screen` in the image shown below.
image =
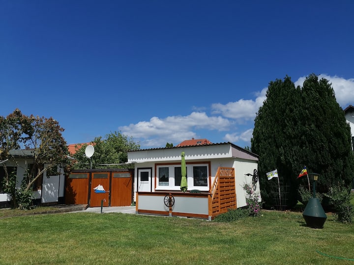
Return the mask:
[[[200,146],[184,146],[173,148],[146,149],[128,152],[128,163],[135,164],[134,200],[137,192],[181,192],[175,185],[175,172],[180,168],[181,152],[185,152],[187,167],[188,191],[199,190],[208,192],[213,184],[219,167],[235,168],[237,207],[246,206],[246,193],[243,185],[252,185],[254,169],[258,169],[258,156],[232,143],[208,144]],[[161,169],[160,169],[161,168]],[[197,182],[194,176],[196,170],[207,172],[206,182]],[[160,181],[161,172],[168,172],[168,180]],[[162,185],[163,184],[163,185]],[[188,192],[187,191],[187,192]],[[260,193],[259,182],[255,192]],[[153,196],[151,196],[153,198]],[[180,199],[180,198],[179,198]],[[153,204],[153,200],[139,204]],[[161,204],[159,202],[159,204]],[[150,206],[152,210],[154,207]]]

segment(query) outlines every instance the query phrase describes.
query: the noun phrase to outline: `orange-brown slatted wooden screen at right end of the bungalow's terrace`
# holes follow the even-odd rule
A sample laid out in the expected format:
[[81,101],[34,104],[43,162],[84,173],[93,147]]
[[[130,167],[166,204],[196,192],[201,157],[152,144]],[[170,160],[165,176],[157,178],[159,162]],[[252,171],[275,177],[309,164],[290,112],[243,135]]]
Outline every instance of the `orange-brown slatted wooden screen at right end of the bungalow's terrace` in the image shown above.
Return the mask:
[[209,216],[236,209],[235,168],[219,167],[209,190]]

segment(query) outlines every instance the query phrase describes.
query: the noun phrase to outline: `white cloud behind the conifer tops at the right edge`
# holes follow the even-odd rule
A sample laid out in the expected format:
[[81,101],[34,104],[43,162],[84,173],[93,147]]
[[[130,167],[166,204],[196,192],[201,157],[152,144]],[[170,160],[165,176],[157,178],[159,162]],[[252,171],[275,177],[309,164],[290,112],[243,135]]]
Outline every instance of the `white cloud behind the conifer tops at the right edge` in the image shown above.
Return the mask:
[[[295,81],[295,85],[302,86],[306,77],[300,77]],[[332,83],[332,87],[335,93],[338,104],[345,108],[348,105],[354,105],[354,79],[344,79],[338,76],[328,76],[321,74],[320,79],[327,79]]]

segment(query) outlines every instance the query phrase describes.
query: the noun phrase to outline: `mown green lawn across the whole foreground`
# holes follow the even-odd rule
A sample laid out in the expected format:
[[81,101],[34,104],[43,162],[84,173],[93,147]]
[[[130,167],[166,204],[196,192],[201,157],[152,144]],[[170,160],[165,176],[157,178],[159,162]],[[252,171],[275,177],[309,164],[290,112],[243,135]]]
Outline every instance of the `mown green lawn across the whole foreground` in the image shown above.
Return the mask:
[[231,223],[123,213],[0,219],[0,264],[353,264],[354,225],[266,212]]

